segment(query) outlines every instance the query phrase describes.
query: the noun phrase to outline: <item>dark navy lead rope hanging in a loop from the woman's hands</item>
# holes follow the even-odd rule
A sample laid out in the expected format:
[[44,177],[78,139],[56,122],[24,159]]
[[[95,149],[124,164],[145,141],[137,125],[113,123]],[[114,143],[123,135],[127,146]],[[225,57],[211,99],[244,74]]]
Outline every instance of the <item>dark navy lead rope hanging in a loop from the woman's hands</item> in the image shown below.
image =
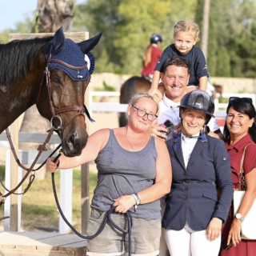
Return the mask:
[[[54,159],[54,162],[57,162],[58,158],[61,156],[62,154],[58,154],[58,156]],[[72,226],[70,224],[70,222],[66,219],[65,215],[63,214],[62,212],[62,208],[61,206],[59,205],[59,202],[58,202],[58,195],[56,193],[56,187],[55,187],[55,180],[54,180],[54,173],[51,174],[51,182],[53,184],[53,190],[54,190],[54,198],[55,198],[55,202],[56,202],[56,205],[58,206],[58,211],[59,213],[62,215],[62,218],[64,220],[64,222],[66,222],[66,225],[70,227],[71,230],[74,231],[75,234],[78,235],[78,237],[80,238],[83,238],[83,239],[92,239],[92,238],[96,238],[99,234],[102,233],[102,230],[104,229],[104,227],[106,226],[106,222],[107,220],[110,221],[110,223],[112,224],[112,226],[114,226],[117,230],[121,231],[122,233],[125,233],[125,234],[129,234],[129,240],[128,240],[128,248],[129,248],[129,251],[128,251],[128,255],[131,256],[131,229],[133,227],[133,218],[131,217],[130,215],[130,212],[129,211],[126,211],[126,218],[127,218],[127,222],[128,222],[128,230],[122,230],[121,227],[117,226],[111,219],[110,215],[114,212],[114,209],[116,208],[116,206],[114,207],[111,207],[111,209],[107,212],[107,215],[106,217],[104,218],[103,222],[102,222],[102,226],[100,227],[100,229],[93,235],[91,236],[88,236],[86,237],[85,235],[82,235],[78,232],[78,230],[76,230],[74,228],[74,226]]]

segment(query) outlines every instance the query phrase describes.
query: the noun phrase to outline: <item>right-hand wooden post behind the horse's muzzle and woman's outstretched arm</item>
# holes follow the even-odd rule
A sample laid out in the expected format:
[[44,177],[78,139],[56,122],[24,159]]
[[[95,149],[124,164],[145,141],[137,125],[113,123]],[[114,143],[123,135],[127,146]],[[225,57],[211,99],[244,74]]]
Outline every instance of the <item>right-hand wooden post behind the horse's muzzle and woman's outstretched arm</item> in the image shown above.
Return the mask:
[[[89,32],[86,32],[85,39],[89,39]],[[89,86],[86,89],[85,104],[89,110]],[[86,130],[90,135],[90,121],[86,118]],[[90,188],[89,188],[89,163],[81,166],[81,205],[82,205],[82,234],[86,234],[90,218]]]

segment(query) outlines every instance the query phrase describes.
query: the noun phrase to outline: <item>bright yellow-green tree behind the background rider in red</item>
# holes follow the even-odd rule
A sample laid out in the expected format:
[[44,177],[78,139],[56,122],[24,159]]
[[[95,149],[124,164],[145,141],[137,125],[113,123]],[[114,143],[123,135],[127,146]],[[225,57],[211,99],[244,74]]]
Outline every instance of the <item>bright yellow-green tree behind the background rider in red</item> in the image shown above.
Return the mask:
[[[118,8],[122,25],[117,27],[118,38],[114,41],[123,73],[139,74],[142,68],[143,49],[149,43],[149,36],[162,30],[170,2],[158,0],[126,0]],[[138,69],[138,67],[140,69]]]

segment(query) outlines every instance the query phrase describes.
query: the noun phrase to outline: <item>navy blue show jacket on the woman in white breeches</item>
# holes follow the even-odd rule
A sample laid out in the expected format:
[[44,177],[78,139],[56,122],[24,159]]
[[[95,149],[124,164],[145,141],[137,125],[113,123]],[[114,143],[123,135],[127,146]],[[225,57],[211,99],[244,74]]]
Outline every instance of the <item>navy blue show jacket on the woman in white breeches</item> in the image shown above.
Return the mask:
[[[206,134],[198,138],[185,166],[181,134],[166,142],[173,183],[166,196],[162,227],[182,230],[186,220],[192,230],[206,230],[214,217],[226,221],[233,198],[230,156],[222,140]],[[218,198],[217,188],[221,190]]]

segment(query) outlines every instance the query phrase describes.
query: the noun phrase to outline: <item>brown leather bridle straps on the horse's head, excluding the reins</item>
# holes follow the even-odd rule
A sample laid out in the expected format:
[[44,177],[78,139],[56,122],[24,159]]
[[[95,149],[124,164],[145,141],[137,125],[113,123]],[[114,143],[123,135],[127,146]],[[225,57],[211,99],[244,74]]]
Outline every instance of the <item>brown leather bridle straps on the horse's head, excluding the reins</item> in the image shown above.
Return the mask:
[[[52,98],[51,98],[51,88],[50,88],[50,70],[49,70],[49,65],[50,65],[50,62],[58,62],[60,64],[62,64],[63,66],[66,66],[72,70],[83,70],[86,68],[87,66],[87,62],[85,65],[83,66],[72,66],[66,62],[63,62],[62,60],[59,60],[59,59],[56,59],[56,58],[51,58],[51,48],[50,48],[50,54],[49,54],[49,57],[47,59],[47,66],[46,66],[46,70],[43,72],[43,76],[42,76],[42,82],[40,84],[40,90],[39,90],[39,93],[38,93],[38,100],[37,100],[37,106],[38,106],[38,101],[39,101],[39,97],[40,97],[40,94],[41,94],[41,91],[42,91],[42,85],[43,85],[43,81],[44,81],[44,78],[46,77],[46,88],[47,88],[47,92],[48,92],[48,99],[49,99],[49,103],[50,103],[50,112],[51,112],[51,115],[52,115],[52,118],[50,120],[50,125],[52,127],[54,127],[54,130],[60,130],[61,127],[62,127],[62,118],[60,118],[60,116],[58,114],[62,114],[62,113],[65,113],[65,112],[70,112],[70,111],[78,111],[78,114],[75,114],[72,118],[70,118],[70,120],[68,122],[66,122],[65,126],[63,126],[62,130],[61,130],[61,133],[60,133],[60,137],[62,136],[62,133],[63,131],[65,130],[66,126],[68,126],[70,124],[70,122],[76,118],[78,115],[82,115],[83,118],[85,118],[85,114],[87,115],[87,117],[90,119],[90,121],[92,120],[90,118],[90,114],[88,112],[88,110],[86,109],[86,106],[83,105],[83,106],[77,106],[77,105],[73,105],[73,106],[64,106],[62,108],[55,108],[54,107],[54,103],[52,101]],[[60,125],[59,126],[54,126],[54,119],[58,119],[58,122],[60,122]]]

